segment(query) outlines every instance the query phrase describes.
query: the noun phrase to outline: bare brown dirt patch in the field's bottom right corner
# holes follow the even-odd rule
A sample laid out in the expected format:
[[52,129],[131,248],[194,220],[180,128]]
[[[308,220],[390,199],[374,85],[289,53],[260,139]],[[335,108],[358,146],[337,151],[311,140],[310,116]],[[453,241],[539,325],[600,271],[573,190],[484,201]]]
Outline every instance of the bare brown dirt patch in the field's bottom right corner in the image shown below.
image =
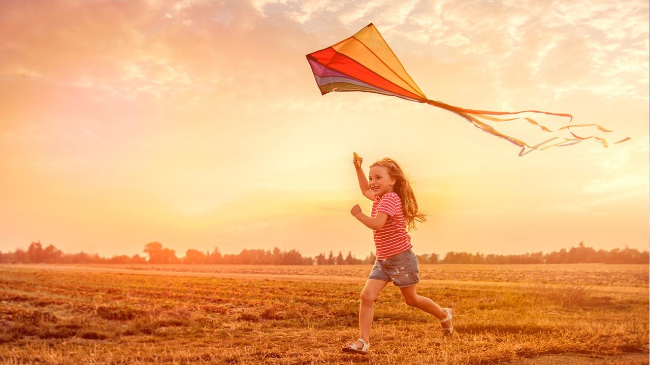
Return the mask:
[[647,353],[623,353],[611,357],[589,357],[576,354],[543,355],[513,362],[515,365],[642,365],[648,364]]

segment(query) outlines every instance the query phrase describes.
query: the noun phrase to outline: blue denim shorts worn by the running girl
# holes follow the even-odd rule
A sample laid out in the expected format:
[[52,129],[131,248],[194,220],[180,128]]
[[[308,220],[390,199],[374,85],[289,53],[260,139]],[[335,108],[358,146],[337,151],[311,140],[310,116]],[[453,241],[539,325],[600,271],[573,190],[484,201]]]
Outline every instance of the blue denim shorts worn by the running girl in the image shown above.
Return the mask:
[[368,279],[393,282],[398,288],[405,288],[420,281],[417,257],[407,249],[385,260],[375,260]]

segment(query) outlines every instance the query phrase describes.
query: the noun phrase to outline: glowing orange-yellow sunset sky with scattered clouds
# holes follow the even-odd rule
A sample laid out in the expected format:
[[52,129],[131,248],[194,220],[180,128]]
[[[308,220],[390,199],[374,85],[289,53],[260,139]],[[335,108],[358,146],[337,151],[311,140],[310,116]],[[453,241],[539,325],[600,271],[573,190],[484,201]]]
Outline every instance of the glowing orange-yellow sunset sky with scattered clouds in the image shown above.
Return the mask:
[[[374,251],[352,152],[406,171],[416,253],[649,245],[647,1],[2,1],[0,251]],[[450,112],[320,95],[374,23],[430,99],[631,139],[533,151]],[[616,139],[617,140],[617,139]]]

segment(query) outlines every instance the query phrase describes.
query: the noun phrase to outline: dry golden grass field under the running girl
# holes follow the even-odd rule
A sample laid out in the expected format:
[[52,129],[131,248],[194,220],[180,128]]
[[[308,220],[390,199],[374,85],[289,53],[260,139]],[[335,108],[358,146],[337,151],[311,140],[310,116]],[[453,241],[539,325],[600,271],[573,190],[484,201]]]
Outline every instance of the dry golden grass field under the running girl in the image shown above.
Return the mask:
[[1,265],[3,364],[648,364],[648,266],[422,265],[389,284],[367,357],[355,340],[369,265]]

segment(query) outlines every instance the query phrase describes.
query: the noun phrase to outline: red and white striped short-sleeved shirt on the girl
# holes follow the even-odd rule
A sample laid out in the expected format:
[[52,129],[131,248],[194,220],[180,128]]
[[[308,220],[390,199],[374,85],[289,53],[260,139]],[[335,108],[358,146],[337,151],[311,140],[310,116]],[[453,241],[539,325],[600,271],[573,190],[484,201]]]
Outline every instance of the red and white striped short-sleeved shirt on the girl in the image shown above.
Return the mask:
[[374,245],[377,258],[383,260],[413,247],[411,236],[406,233],[406,219],[402,210],[402,199],[396,192],[387,192],[382,197],[375,197],[372,203],[372,218],[377,212],[388,216],[386,223],[374,231]]

